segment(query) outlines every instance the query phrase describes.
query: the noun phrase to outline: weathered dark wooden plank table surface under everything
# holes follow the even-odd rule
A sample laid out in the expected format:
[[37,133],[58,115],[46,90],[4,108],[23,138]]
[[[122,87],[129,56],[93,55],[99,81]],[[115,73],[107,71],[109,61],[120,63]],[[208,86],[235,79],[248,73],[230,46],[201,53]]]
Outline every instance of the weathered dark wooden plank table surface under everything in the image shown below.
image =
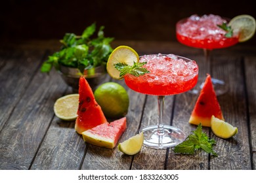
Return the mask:
[[[135,48],[141,54],[173,53],[194,59],[205,78],[203,51],[179,42],[114,41]],[[218,96],[224,118],[238,127],[238,134],[220,139],[209,127],[203,131],[217,141],[218,157],[205,152],[175,154],[172,149],[142,147],[139,154],[125,156],[117,148],[106,149],[87,144],[75,133],[74,122],[54,116],[56,99],[72,93],[56,71],[40,72],[43,61],[60,44],[52,41],[26,41],[3,44],[0,49],[0,169],[256,169],[256,47],[240,43],[213,50],[211,76],[228,84],[228,92]],[[114,81],[107,76],[102,82]],[[156,124],[155,96],[127,88],[130,97],[125,141],[139,129]],[[164,120],[187,135],[196,125],[188,119],[197,95],[182,93],[165,98]]]

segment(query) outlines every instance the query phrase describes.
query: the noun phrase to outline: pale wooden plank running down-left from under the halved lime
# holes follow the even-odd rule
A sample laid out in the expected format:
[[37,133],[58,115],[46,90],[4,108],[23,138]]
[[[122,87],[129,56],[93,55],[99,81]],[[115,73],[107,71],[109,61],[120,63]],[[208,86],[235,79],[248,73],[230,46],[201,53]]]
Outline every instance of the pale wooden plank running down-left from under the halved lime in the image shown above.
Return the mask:
[[[108,80],[110,77],[106,75],[98,85]],[[69,87],[65,95],[70,93],[74,92]],[[74,121],[64,122],[55,116],[31,169],[79,169],[85,156],[86,144],[81,135],[75,133],[74,127]]]

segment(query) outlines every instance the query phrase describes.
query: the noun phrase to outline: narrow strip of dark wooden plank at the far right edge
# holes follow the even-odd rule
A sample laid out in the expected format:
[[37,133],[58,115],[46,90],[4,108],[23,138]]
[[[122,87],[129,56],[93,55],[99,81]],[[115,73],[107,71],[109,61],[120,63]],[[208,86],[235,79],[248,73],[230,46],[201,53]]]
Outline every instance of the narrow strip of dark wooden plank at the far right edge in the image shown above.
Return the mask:
[[247,86],[251,147],[253,152],[256,152],[256,56],[245,58],[245,82]]

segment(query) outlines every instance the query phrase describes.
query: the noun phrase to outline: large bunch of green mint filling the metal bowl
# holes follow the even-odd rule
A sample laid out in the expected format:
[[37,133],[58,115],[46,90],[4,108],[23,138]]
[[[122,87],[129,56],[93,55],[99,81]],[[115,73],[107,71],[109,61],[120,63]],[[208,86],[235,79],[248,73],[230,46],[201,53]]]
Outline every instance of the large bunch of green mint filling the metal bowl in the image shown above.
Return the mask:
[[81,73],[84,69],[105,66],[113,51],[110,45],[113,40],[104,36],[104,26],[96,33],[96,23],[86,27],[81,35],[66,33],[60,40],[60,50],[43,62],[41,72],[49,73],[53,67],[59,70],[60,65],[77,68]]

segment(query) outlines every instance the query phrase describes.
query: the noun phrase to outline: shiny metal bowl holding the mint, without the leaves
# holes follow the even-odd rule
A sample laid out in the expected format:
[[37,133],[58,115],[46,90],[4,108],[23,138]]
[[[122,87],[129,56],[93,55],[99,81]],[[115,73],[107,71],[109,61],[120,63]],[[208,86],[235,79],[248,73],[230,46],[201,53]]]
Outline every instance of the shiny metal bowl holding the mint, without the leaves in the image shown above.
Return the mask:
[[63,80],[71,86],[74,92],[77,92],[79,89],[79,78],[80,76],[84,76],[87,82],[90,84],[91,88],[94,90],[95,87],[100,83],[100,81],[106,75],[106,68],[101,65],[98,67],[93,67],[91,69],[85,69],[83,73],[79,71],[77,68],[66,67],[60,65],[59,70],[60,75]]

